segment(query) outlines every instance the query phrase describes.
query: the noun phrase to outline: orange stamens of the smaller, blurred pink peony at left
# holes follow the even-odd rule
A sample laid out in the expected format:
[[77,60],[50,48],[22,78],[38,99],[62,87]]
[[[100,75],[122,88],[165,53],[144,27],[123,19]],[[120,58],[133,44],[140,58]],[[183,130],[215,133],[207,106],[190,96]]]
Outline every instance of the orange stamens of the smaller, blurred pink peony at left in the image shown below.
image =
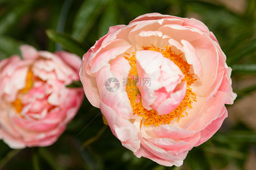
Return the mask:
[[20,113],[24,104],[21,102],[20,95],[23,95],[29,91],[30,88],[32,88],[33,85],[33,72],[31,70],[28,71],[27,79],[26,79],[26,86],[19,90],[18,97],[16,100],[12,103],[13,107],[15,108],[16,112]]

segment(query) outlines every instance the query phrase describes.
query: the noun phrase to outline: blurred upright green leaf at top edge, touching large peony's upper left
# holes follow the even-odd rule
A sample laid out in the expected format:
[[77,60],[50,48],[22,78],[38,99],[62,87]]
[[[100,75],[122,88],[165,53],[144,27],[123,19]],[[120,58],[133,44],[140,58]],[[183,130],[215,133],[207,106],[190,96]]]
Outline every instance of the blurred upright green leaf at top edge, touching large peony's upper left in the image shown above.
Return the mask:
[[117,1],[110,0],[107,4],[107,9],[102,14],[99,21],[98,36],[102,37],[107,34],[110,26],[118,25],[118,10]]

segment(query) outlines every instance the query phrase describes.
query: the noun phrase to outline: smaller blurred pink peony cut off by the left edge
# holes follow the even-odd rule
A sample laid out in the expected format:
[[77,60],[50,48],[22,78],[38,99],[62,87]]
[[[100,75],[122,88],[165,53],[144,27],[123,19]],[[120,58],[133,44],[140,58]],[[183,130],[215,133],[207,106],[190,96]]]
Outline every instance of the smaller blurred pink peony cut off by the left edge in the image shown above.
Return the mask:
[[65,51],[37,51],[21,46],[18,55],[0,62],[0,139],[11,148],[49,146],[76,115],[82,88],[67,88],[79,80],[81,59]]

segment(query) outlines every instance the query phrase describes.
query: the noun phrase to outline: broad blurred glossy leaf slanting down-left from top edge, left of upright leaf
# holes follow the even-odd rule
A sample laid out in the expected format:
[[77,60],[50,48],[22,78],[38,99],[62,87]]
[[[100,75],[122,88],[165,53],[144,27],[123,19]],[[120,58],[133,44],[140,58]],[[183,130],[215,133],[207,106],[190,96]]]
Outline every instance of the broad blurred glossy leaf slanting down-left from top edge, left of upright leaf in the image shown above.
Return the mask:
[[85,39],[94,23],[99,18],[108,0],[87,0],[78,10],[73,26],[72,36],[78,41]]

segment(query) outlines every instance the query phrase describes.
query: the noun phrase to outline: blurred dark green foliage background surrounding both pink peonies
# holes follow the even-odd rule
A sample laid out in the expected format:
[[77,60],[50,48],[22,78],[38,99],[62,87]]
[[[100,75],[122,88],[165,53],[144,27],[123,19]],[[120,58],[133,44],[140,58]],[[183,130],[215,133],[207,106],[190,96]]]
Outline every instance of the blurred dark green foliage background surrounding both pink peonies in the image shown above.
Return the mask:
[[110,26],[151,12],[201,20],[218,39],[238,94],[220,130],[193,148],[183,166],[160,166],[122,147],[103,124],[100,110],[85,98],[65,133],[49,147],[12,150],[0,140],[0,169],[255,169],[255,0],[0,0],[0,59],[20,54],[21,44],[82,57]]

